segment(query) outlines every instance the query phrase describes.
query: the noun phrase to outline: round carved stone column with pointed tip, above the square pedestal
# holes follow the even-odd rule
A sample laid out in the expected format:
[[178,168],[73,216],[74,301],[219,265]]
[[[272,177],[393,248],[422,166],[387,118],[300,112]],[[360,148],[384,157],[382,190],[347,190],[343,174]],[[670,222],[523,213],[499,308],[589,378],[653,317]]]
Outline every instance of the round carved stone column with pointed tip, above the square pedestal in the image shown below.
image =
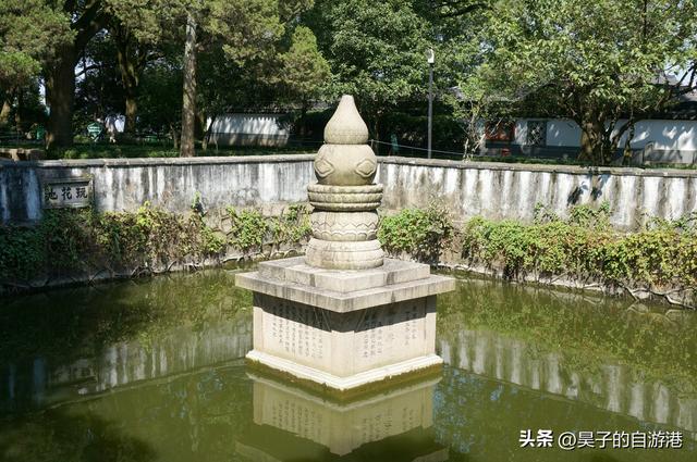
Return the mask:
[[381,266],[378,233],[382,186],[374,185],[377,158],[368,145],[368,127],[352,96],[344,95],[325,127],[325,145],[315,158],[317,184],[307,187],[313,237],[305,262],[327,270]]

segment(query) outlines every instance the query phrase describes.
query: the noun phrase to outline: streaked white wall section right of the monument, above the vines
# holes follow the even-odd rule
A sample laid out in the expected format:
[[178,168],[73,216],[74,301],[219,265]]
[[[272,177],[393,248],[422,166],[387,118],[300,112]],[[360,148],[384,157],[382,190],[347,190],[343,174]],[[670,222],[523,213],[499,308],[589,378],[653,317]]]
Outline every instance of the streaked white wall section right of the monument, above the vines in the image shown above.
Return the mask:
[[697,211],[697,171],[586,168],[439,160],[381,159],[378,180],[390,210],[443,201],[455,220],[476,215],[529,222],[541,203],[565,216],[573,204],[610,203],[612,224],[636,227],[648,216]]

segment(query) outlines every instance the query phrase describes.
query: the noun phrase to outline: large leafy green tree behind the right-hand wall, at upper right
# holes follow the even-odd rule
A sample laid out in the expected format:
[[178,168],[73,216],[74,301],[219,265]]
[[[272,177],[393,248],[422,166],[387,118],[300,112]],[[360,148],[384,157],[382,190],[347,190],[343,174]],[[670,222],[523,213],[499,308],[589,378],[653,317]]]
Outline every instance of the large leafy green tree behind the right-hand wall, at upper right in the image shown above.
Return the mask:
[[[487,10],[481,63],[464,87],[573,118],[580,157],[606,164],[637,120],[695,89],[696,27],[697,3],[680,0],[501,0]],[[676,70],[672,85],[664,75]]]

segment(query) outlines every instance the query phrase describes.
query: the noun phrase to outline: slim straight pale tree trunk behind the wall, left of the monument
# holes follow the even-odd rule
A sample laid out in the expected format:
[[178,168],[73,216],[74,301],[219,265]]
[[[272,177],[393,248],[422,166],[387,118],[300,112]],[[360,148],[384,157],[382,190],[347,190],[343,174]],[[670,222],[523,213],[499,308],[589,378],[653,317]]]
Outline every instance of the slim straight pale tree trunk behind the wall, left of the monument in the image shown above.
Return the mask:
[[186,42],[184,45],[184,98],[182,101],[182,141],[180,155],[195,154],[194,130],[196,125],[196,21],[189,13],[186,17]]

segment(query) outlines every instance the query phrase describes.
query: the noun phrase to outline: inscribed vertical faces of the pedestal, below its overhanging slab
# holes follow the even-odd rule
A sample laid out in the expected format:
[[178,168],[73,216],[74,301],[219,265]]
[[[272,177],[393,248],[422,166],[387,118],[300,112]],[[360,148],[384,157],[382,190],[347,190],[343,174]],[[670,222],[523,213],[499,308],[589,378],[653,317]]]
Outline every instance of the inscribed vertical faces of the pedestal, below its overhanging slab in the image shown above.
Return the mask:
[[435,303],[429,298],[337,313],[255,297],[259,316],[254,348],[332,375],[345,377],[435,353]]

